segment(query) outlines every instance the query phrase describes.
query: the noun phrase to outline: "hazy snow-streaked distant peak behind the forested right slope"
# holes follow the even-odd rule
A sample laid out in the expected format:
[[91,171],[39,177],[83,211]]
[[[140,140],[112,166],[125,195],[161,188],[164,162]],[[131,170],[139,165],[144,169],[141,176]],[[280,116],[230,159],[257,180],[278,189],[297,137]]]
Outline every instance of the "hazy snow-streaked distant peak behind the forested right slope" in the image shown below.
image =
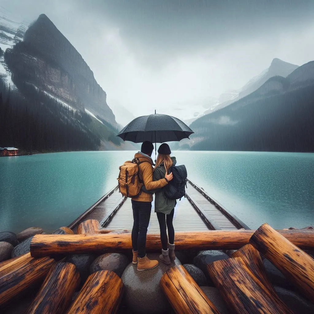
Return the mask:
[[298,68],[298,65],[284,62],[278,58],[274,58],[269,68],[265,69],[259,75],[251,78],[241,89],[231,90],[227,93],[221,94],[217,102],[212,105],[208,110],[206,110],[203,115],[224,108],[231,103],[245,97],[246,95],[251,94],[273,76],[286,77],[296,68]]

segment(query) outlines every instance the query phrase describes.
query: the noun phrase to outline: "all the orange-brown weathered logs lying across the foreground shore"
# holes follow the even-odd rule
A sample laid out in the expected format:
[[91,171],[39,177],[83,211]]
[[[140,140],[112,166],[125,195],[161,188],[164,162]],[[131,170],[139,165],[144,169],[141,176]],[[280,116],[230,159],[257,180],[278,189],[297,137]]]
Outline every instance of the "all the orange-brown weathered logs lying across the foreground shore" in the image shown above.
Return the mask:
[[[314,300],[314,260],[302,251],[314,248],[313,229],[275,231],[264,224],[257,230],[178,232],[175,244],[178,250],[238,249],[229,259],[207,265],[231,313],[292,313],[269,281],[261,256],[279,268],[303,296]],[[89,313],[91,309],[115,313],[124,292],[120,277],[111,271],[95,272],[73,300],[80,282],[76,267],[63,260],[56,263],[51,257],[131,249],[130,233],[102,230],[96,220],[82,222],[77,234],[62,227],[52,235],[35,235],[30,253],[0,263],[0,312],[1,306],[39,283],[41,288],[25,309],[27,313]],[[147,236],[147,249],[160,250],[159,234]],[[164,273],[160,286],[176,313],[219,313],[183,266]]]

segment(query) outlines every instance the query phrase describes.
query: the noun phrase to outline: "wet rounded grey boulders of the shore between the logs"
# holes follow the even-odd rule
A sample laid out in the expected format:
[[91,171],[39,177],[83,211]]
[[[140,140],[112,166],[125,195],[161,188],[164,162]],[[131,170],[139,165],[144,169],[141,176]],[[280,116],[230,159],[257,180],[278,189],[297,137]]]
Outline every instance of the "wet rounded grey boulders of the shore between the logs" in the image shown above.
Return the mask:
[[[294,227],[289,228],[296,229]],[[309,226],[304,229],[313,229]],[[19,257],[30,252],[30,242],[36,234],[44,234],[40,227],[31,227],[15,234],[13,232],[0,232],[0,267],[2,262]],[[73,233],[67,227],[62,227],[53,234]],[[176,260],[171,265],[160,263],[153,270],[138,272],[136,265],[132,264],[132,252],[106,253],[106,254],[72,254],[68,256],[53,256],[57,261],[72,263],[76,266],[81,282],[77,292],[73,295],[75,300],[79,289],[83,286],[91,273],[99,270],[111,270],[123,281],[125,292],[117,313],[174,313],[168,300],[160,288],[162,275],[174,265],[183,265],[203,292],[214,303],[221,314],[230,313],[225,301],[208,276],[206,266],[217,260],[228,259],[235,250],[219,251],[177,251]],[[313,257],[314,252],[307,251]],[[158,259],[159,253],[148,253],[151,259]],[[262,257],[268,278],[273,284],[279,298],[295,313],[314,313],[314,304],[306,300],[297,288],[268,259]],[[40,284],[19,296],[17,302],[0,308],[1,313],[21,314],[29,308],[33,298],[40,288]]]

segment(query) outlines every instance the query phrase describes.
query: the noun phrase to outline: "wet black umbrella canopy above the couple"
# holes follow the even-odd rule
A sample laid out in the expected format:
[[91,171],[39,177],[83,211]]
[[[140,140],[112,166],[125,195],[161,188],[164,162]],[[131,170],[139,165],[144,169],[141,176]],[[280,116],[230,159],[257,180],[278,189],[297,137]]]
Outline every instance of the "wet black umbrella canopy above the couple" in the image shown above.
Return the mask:
[[181,141],[194,133],[184,122],[168,115],[152,114],[132,120],[117,135],[133,143]]

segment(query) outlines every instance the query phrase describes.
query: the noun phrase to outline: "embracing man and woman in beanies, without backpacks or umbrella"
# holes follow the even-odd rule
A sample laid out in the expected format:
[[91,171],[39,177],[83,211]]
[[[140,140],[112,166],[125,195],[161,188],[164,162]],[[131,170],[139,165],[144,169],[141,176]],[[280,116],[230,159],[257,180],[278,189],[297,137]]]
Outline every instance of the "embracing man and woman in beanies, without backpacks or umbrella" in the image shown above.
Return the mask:
[[[151,159],[153,150],[153,143],[146,141],[142,144],[141,151],[134,156],[134,158],[138,158],[140,161],[138,166],[139,176],[143,181],[140,195],[137,198],[132,198],[134,220],[132,229],[133,264],[138,264],[138,270],[152,269],[158,265],[158,261],[149,260],[145,251],[147,227],[154,193],[155,213],[160,226],[160,240],[162,244],[162,254],[159,256],[159,259],[165,264],[170,264],[171,260],[176,258],[174,253],[175,231],[172,225],[176,200],[166,198],[162,190],[173,178],[172,172],[168,174],[168,170],[172,165],[176,164],[176,158],[170,157],[171,150],[169,145],[163,143],[158,149],[156,165],[153,168],[154,163]],[[169,242],[166,232],[167,228]]]

